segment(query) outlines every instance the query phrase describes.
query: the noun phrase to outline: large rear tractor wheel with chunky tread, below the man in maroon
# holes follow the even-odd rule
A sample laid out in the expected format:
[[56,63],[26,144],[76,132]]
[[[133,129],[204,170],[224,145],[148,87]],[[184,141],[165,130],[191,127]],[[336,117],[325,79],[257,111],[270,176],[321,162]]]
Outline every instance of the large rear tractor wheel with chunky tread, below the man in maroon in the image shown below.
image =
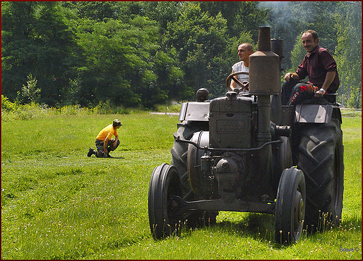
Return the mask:
[[339,227],[343,208],[343,137],[340,121],[302,126],[297,167],[306,181],[305,224],[311,232]]

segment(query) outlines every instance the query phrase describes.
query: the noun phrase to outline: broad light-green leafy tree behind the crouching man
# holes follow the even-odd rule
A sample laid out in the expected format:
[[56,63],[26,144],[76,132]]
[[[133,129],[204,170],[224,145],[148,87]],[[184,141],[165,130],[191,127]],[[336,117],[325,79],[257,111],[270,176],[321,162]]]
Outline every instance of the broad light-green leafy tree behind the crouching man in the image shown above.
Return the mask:
[[182,71],[158,45],[156,22],[141,16],[127,24],[82,20],[78,30],[77,43],[86,57],[77,68],[85,100],[151,107],[169,98],[168,88],[176,91],[174,95],[182,91],[177,84]]

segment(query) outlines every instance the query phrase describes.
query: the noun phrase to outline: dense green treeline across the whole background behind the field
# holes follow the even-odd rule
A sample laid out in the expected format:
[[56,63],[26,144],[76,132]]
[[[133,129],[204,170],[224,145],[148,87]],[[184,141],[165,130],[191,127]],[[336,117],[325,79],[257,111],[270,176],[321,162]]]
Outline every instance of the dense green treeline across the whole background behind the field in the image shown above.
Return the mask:
[[361,107],[361,10],[332,1],[5,1],[2,94],[57,107],[153,107],[194,99],[200,87],[220,96],[237,46],[256,45],[267,25],[285,40],[286,70],[302,60],[302,31],[318,31],[339,67],[339,102]]

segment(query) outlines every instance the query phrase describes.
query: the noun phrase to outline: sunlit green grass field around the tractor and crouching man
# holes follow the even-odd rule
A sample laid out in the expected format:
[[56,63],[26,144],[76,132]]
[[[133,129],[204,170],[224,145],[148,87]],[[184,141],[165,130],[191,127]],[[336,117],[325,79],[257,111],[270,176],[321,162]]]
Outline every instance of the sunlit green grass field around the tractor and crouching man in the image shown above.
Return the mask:
[[[87,157],[119,118],[114,158]],[[52,115],[1,126],[2,259],[362,259],[362,119],[343,118],[345,189],[340,228],[292,246],[274,242],[274,216],[220,212],[212,228],[154,241],[147,193],[170,163],[178,117]]]

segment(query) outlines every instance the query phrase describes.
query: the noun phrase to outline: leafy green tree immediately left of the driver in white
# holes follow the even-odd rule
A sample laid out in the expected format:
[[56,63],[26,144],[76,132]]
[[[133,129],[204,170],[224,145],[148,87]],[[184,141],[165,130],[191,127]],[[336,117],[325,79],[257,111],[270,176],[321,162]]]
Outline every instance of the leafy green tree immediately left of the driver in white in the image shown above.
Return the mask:
[[165,43],[175,47],[184,81],[193,93],[199,88],[220,94],[227,74],[223,56],[227,46],[226,21],[202,12],[199,3],[185,3],[179,20],[168,26]]

